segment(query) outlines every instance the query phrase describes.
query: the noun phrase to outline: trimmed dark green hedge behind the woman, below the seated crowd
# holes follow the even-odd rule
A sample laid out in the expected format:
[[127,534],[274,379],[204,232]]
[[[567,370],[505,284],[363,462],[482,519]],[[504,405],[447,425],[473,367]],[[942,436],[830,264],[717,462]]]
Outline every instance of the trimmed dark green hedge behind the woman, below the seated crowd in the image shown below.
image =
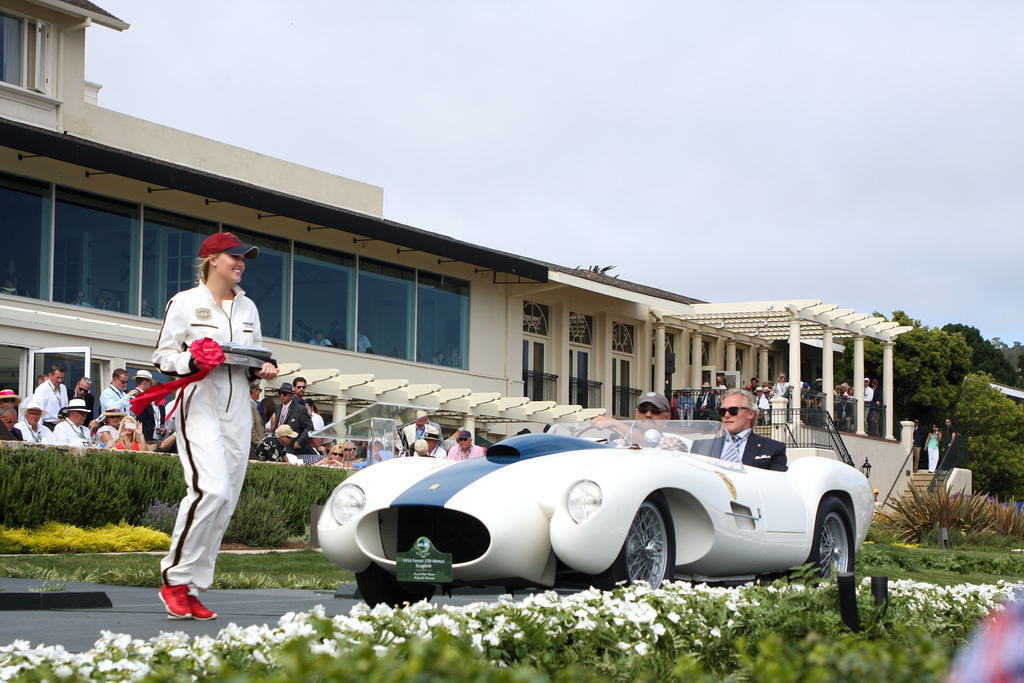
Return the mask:
[[[309,506],[326,502],[346,476],[344,470],[250,463],[242,495],[271,501],[289,533],[299,536],[309,522]],[[173,456],[0,451],[0,524],[7,527],[131,522],[154,501],[175,504],[184,494],[181,463]]]

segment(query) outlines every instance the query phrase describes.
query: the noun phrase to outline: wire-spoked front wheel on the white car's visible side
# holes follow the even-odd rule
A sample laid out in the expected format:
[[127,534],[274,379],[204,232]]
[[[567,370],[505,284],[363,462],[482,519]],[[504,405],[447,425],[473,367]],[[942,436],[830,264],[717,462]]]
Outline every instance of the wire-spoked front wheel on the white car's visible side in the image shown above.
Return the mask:
[[616,584],[647,582],[657,588],[672,579],[676,564],[676,539],[669,506],[660,494],[640,504],[626,541],[611,566],[594,577],[594,586],[611,590]]

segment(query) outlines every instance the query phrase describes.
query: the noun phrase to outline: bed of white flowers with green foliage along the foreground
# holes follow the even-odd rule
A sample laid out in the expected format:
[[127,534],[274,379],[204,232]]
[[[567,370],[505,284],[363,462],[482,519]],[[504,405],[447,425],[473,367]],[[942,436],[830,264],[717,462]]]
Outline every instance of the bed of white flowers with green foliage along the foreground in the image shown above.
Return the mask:
[[357,605],[335,617],[317,607],[274,628],[229,624],[216,637],[105,633],[83,653],[18,641],[0,648],[0,679],[928,681],[1021,588],[898,581],[883,608],[865,579],[858,634],[842,625],[830,583],[639,585],[464,607]]

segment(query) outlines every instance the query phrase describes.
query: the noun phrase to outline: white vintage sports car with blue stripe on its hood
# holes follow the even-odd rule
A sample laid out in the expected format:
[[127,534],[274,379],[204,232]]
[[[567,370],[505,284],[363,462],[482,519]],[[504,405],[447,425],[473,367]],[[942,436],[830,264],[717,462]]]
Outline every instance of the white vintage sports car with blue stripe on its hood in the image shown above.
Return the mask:
[[717,422],[558,425],[485,458],[399,458],[349,477],[317,531],[364,599],[436,587],[743,581],[816,563],[852,571],[873,514],[858,470],[827,458],[788,471],[718,454]]

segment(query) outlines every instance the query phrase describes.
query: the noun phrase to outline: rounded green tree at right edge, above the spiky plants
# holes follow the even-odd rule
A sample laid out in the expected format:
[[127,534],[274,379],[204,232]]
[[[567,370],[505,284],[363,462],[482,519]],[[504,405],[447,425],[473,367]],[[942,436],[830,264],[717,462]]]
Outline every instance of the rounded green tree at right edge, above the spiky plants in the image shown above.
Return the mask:
[[953,412],[956,440],[967,438],[961,466],[974,473],[974,489],[1001,500],[1024,500],[1024,408],[989,382],[990,375],[964,380]]

